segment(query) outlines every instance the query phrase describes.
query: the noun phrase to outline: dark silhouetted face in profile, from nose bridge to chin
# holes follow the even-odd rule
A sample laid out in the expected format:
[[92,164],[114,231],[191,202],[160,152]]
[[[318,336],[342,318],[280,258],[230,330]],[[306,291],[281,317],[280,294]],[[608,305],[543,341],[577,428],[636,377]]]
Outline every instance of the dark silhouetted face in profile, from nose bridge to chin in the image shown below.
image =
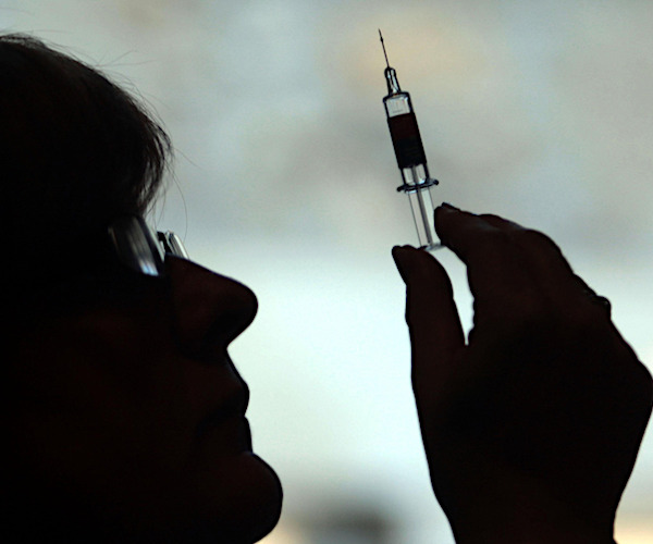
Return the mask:
[[189,261],[165,265],[165,279],[125,271],[127,295],[19,339],[14,474],[34,517],[60,528],[255,542],[282,492],[252,453],[249,392],[227,346],[256,298]]

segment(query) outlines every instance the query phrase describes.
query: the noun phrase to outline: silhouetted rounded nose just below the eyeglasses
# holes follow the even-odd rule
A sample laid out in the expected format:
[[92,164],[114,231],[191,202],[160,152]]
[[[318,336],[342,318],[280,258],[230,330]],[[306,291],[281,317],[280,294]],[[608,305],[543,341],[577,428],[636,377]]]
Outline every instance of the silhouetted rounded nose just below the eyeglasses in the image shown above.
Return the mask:
[[195,359],[223,358],[226,346],[254,321],[258,302],[251,289],[192,261],[167,256],[175,334]]

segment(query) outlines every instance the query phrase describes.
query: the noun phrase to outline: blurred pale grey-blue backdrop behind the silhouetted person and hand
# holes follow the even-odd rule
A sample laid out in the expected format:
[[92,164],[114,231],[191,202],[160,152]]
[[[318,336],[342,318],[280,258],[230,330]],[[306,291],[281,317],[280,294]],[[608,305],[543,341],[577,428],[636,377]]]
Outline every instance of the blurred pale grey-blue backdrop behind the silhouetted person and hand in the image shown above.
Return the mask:
[[[549,233],[653,363],[653,3],[645,0],[3,0],[172,135],[152,213],[251,286],[232,356],[285,483],[267,544],[451,543],[409,383],[395,244],[416,244],[384,111],[411,92],[439,200]],[[446,250],[460,313],[471,299]],[[653,542],[653,432],[618,519]]]

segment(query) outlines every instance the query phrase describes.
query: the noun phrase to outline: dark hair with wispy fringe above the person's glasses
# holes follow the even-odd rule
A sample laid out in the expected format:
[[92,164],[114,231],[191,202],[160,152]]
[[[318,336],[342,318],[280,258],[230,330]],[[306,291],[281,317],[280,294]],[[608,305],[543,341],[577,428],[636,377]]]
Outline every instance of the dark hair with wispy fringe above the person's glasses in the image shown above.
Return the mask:
[[0,186],[11,281],[90,258],[108,222],[143,214],[170,154],[161,126],[97,70],[0,36]]

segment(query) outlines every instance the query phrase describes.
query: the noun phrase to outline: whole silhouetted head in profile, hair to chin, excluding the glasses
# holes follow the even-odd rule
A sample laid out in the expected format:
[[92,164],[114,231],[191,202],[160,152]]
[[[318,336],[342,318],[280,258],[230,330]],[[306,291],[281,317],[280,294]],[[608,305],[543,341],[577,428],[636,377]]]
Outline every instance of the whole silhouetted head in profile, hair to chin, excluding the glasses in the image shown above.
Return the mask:
[[98,71],[25,36],[0,37],[0,116],[8,527],[21,542],[261,537],[281,487],[250,450],[226,351],[254,294],[178,258],[139,275],[107,243],[113,219],[151,205],[168,136]]

